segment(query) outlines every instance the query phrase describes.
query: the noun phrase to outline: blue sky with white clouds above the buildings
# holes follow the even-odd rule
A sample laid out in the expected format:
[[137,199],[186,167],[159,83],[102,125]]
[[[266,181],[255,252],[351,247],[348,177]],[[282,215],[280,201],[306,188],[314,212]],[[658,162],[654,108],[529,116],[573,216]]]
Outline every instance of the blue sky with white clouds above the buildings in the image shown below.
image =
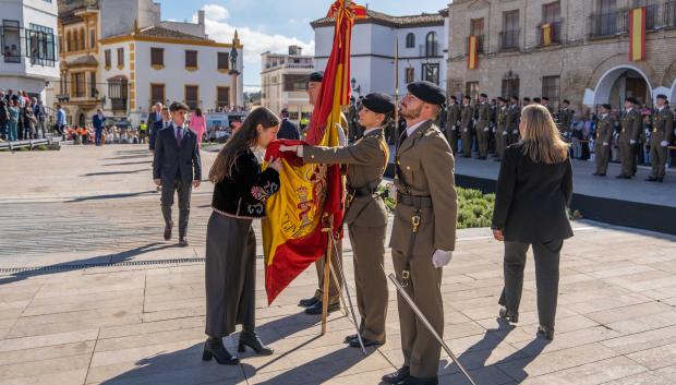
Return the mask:
[[[157,1],[157,0],[156,0]],[[326,15],[333,0],[159,0],[162,20],[197,21],[206,12],[209,38],[230,43],[237,28],[244,45],[244,89],[261,87],[261,53],[286,53],[290,45],[314,55],[314,32],[310,22]],[[437,12],[448,0],[369,0],[369,9],[391,15]]]

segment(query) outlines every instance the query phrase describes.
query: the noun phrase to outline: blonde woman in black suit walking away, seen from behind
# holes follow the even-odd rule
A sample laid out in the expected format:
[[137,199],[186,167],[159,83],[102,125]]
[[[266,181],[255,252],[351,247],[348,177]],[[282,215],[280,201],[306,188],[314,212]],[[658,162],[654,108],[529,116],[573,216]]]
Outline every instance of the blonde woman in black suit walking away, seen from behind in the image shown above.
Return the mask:
[[546,108],[521,111],[521,141],[505,151],[497,179],[493,234],[505,242],[505,288],[499,315],[519,320],[526,253],[533,246],[538,285],[538,334],[554,338],[558,263],[564,240],[572,237],[566,213],[572,195],[569,148]]

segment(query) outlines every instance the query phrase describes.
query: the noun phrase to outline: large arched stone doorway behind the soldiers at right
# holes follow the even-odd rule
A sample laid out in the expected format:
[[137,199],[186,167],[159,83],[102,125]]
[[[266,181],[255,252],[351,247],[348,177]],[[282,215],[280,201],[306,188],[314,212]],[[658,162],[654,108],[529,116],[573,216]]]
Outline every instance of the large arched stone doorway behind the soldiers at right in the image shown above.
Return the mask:
[[635,97],[652,106],[652,85],[648,76],[630,65],[615,67],[601,76],[594,89],[594,105],[608,103],[620,107],[627,97]]

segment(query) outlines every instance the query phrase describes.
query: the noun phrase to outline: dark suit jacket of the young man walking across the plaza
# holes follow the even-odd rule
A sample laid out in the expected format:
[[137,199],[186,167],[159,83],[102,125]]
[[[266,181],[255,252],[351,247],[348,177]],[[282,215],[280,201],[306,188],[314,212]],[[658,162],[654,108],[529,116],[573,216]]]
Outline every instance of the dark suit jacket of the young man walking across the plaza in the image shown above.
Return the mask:
[[179,146],[174,132],[173,124],[157,132],[153,179],[172,182],[180,177],[183,183],[202,180],[197,135],[189,129],[183,129],[183,140]]

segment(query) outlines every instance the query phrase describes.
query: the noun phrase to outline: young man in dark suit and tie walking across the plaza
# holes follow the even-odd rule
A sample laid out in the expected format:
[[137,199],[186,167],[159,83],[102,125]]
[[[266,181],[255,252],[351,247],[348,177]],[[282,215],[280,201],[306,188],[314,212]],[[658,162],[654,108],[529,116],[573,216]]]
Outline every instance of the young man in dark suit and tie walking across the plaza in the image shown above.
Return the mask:
[[185,125],[188,106],[174,101],[169,107],[172,121],[170,125],[157,132],[155,140],[155,158],[153,179],[162,188],[161,207],[165,217],[165,240],[171,239],[171,206],[173,193],[179,194],[179,245],[186,246],[188,218],[190,216],[191,189],[200,187],[202,180],[202,160],[197,147],[197,135]]

